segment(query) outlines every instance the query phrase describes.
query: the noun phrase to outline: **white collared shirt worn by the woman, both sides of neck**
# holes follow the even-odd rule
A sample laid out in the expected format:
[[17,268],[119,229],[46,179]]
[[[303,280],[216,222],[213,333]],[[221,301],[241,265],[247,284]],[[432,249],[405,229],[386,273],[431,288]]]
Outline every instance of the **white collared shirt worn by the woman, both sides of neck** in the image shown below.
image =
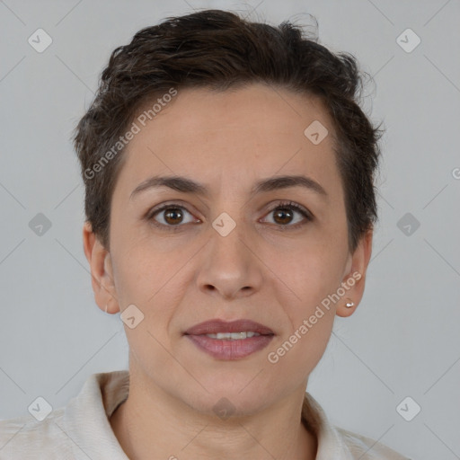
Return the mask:
[[[31,415],[0,420],[0,460],[128,460],[109,421],[128,398],[128,389],[128,370],[93,374],[65,407],[42,421]],[[302,418],[316,433],[316,460],[410,460],[373,439],[332,426],[309,393]],[[179,452],[176,456],[181,458]]]

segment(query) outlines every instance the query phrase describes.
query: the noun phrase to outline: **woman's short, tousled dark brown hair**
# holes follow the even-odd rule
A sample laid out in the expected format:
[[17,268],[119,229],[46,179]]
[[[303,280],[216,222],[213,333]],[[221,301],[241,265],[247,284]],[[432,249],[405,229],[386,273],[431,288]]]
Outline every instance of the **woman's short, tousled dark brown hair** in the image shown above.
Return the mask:
[[[349,251],[354,252],[377,220],[374,173],[382,133],[359,108],[362,75],[355,57],[332,53],[288,21],[274,27],[232,12],[204,10],[138,31],[128,45],[111,53],[94,101],[75,128],[86,220],[109,249],[111,197],[124,148],[110,155],[111,161],[101,162],[110,151],[117,153],[113,146],[147,101],[171,88],[225,91],[262,82],[319,96],[328,111],[345,197]],[[96,164],[101,165],[97,174]]]

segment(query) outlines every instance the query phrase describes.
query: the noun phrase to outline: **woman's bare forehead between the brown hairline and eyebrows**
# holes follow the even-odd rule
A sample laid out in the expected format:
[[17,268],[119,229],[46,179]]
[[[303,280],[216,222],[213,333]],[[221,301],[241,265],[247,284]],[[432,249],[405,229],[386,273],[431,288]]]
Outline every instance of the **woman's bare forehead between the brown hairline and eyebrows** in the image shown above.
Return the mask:
[[[139,130],[119,176],[125,193],[158,173],[188,176],[216,191],[246,182],[249,190],[258,178],[276,174],[304,173],[330,190],[339,182],[332,124],[313,96],[251,84],[224,92],[179,90],[152,111],[156,101],[134,119]],[[310,126],[326,128],[328,135],[314,144],[305,136]]]

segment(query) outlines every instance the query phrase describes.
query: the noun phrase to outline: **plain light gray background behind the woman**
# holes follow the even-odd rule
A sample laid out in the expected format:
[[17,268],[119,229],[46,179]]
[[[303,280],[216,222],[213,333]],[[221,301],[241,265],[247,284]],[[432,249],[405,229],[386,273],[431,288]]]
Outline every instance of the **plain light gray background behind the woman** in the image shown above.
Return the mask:
[[[87,376],[128,368],[119,314],[93,300],[69,139],[112,49],[203,7],[271,23],[311,13],[320,42],[375,77],[365,108],[387,131],[366,293],[337,318],[308,390],[343,428],[414,459],[460,458],[458,0],[0,2],[0,418],[39,395],[60,407]],[[38,28],[53,40],[43,53],[28,43]],[[407,28],[421,39],[410,53],[396,41]],[[52,223],[41,236],[38,213]],[[406,213],[420,222],[411,235],[397,226]],[[411,421],[396,411],[406,396],[421,407]]]

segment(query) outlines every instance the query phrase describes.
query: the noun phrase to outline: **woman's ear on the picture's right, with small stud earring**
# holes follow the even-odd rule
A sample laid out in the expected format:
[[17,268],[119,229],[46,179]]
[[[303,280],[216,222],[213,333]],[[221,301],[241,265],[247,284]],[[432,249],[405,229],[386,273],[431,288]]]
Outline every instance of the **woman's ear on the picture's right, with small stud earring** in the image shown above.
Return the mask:
[[[359,240],[358,247],[353,254],[349,254],[346,274],[342,279],[342,284],[348,288],[347,293],[341,298],[337,305],[336,314],[338,316],[350,316],[358,308],[358,304],[364,294],[366,284],[366,271],[372,253],[372,237],[374,231],[370,229]],[[354,280],[354,282],[353,282]],[[355,305],[347,307],[347,302]]]

